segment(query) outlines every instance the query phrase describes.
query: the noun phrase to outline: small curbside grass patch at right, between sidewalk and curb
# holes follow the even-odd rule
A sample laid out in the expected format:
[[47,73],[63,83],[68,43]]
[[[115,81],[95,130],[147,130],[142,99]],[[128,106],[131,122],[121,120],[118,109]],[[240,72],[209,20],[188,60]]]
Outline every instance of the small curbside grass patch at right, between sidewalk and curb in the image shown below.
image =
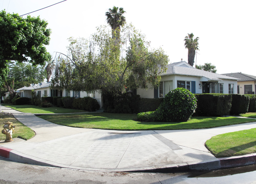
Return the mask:
[[217,158],[256,153],[256,128],[213,136],[206,147]]

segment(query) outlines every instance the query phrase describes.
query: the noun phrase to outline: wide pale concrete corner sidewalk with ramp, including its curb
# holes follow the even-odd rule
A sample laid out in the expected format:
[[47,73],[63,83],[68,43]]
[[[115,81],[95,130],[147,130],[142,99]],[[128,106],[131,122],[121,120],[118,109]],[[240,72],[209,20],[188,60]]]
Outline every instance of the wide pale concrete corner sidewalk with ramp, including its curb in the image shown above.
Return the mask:
[[[2,106],[34,130],[28,141],[0,141],[10,160],[95,171],[168,172],[256,164],[256,154],[216,158],[204,146],[212,136],[256,128],[256,122],[198,130],[112,131],[57,125]],[[15,134],[15,132],[14,132]]]

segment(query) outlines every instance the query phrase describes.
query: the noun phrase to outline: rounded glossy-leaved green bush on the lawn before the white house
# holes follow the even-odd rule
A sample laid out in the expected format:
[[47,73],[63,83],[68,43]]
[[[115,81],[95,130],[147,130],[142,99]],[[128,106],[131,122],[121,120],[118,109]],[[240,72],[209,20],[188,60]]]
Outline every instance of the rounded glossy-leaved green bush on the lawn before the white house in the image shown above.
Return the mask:
[[156,110],[156,121],[188,121],[197,108],[197,99],[189,90],[171,90]]

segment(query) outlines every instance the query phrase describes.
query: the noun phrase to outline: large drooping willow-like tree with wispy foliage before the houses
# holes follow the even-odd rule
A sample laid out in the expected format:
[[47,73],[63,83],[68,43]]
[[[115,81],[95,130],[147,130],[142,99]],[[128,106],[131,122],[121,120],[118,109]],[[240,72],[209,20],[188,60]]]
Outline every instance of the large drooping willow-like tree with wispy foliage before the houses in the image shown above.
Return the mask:
[[160,74],[167,70],[168,56],[161,48],[150,50],[150,42],[132,25],[120,32],[120,45],[106,26],[99,27],[91,40],[69,41],[68,53],[57,59],[53,86],[124,94],[158,86]]

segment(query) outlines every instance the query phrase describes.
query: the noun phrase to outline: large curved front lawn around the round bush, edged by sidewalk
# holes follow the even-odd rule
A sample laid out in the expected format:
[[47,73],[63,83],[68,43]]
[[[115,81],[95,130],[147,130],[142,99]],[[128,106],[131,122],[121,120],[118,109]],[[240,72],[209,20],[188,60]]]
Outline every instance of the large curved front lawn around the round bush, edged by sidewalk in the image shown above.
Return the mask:
[[205,129],[254,122],[254,119],[237,117],[192,117],[187,122],[139,122],[136,114],[86,113],[44,115],[47,121],[72,127],[106,130],[184,130]]

